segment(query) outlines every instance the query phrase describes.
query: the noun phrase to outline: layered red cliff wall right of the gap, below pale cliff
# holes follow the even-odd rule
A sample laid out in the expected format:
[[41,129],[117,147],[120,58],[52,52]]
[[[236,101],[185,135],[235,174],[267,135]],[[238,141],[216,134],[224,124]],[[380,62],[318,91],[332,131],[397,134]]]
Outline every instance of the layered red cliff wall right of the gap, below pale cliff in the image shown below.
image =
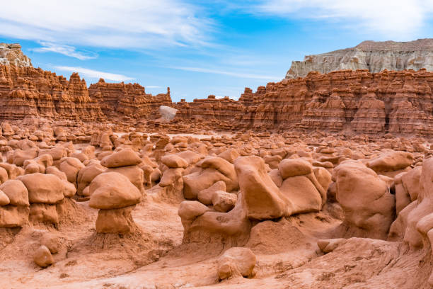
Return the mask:
[[[432,135],[433,72],[311,72],[246,88],[239,101],[207,98],[178,103],[178,118],[231,123],[231,128],[301,129]],[[231,115],[231,116],[230,116]]]

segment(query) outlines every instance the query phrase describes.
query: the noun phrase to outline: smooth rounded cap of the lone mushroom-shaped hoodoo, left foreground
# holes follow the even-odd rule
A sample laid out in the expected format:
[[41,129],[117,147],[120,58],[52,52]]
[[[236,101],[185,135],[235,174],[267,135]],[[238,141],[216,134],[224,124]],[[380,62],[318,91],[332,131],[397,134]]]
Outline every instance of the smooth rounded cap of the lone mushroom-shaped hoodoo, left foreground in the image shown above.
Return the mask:
[[96,209],[118,209],[140,203],[142,193],[129,179],[115,172],[99,174],[90,184],[88,205]]

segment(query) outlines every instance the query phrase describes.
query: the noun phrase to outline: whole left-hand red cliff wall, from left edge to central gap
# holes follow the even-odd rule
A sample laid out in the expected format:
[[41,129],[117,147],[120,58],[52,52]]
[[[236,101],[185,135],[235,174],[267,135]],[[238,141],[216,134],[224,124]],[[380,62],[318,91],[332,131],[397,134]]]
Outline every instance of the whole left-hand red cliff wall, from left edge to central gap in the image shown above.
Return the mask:
[[0,65],[0,120],[152,118],[159,106],[172,106],[170,89],[152,96],[139,84],[108,84],[103,79],[88,89],[76,73],[68,81],[40,68]]

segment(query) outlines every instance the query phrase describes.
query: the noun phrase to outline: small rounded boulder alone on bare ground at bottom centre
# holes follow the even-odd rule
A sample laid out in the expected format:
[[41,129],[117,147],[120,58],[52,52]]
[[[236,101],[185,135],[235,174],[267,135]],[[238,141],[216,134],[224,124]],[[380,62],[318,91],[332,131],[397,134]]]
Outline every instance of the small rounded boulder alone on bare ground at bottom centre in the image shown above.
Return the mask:
[[255,255],[248,248],[233,247],[224,252],[218,260],[218,277],[251,277],[255,267]]

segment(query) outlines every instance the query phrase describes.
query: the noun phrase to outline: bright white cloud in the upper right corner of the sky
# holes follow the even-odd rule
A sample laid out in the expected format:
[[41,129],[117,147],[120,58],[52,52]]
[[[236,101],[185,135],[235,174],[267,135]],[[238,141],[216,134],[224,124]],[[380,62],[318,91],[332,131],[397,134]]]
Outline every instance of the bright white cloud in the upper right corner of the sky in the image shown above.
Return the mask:
[[357,33],[412,40],[433,13],[433,0],[263,0],[255,12],[321,19]]

